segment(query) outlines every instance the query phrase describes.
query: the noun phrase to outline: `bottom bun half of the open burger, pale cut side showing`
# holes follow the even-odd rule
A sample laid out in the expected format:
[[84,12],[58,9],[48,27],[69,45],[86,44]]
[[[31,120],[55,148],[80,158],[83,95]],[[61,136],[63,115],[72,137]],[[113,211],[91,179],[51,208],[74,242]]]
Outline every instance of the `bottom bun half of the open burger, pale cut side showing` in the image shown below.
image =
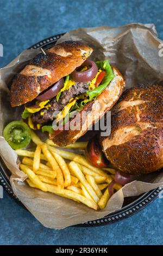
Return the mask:
[[[103,117],[106,111],[114,106],[126,86],[126,81],[115,67],[112,67],[112,70],[115,77],[109,83],[109,86],[94,101],[88,103],[75,118],[70,120],[67,124],[67,126],[70,126],[70,130],[64,130],[57,136],[54,133],[50,134],[49,137],[55,144],[63,147],[76,142],[93,124]],[[83,123],[82,120],[84,120]],[[76,123],[76,130],[71,129],[71,125],[74,123]]]

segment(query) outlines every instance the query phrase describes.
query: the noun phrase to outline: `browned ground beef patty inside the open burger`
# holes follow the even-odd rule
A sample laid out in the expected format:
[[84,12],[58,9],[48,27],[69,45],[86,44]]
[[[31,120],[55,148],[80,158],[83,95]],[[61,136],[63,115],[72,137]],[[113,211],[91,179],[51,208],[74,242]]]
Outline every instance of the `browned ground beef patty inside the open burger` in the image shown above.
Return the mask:
[[[71,98],[78,96],[79,94],[86,93],[87,88],[89,87],[90,82],[81,82],[76,83],[74,86],[71,86],[68,90],[65,90],[57,102],[56,97],[54,97],[49,104],[51,107],[49,109],[43,108],[39,112],[33,114],[32,120],[34,123],[48,123],[49,121],[53,121],[53,112],[61,111]],[[41,115],[41,112],[44,112]]]

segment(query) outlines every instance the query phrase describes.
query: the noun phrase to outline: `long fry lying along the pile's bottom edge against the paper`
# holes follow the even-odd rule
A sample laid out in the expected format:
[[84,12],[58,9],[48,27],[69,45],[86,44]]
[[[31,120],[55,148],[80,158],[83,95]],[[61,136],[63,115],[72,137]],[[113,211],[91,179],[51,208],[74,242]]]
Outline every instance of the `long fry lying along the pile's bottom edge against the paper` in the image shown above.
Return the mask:
[[65,190],[64,188],[60,189],[58,186],[49,185],[49,184],[46,184],[46,185],[47,185],[48,192],[57,194],[58,196],[61,196],[61,197],[66,197],[66,198],[75,200],[77,202],[81,202],[94,210],[97,210],[98,208],[96,203],[93,203],[92,200],[85,198],[81,194],[78,194],[70,190]]

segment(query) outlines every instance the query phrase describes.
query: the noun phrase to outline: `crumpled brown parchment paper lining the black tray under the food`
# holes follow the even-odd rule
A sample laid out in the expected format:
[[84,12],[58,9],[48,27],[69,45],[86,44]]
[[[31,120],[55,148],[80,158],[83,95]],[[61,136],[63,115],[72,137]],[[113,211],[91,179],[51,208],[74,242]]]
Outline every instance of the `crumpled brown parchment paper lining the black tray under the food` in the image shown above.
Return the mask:
[[[127,88],[142,83],[162,84],[163,57],[159,57],[159,45],[163,41],[158,39],[155,26],[152,24],[131,23],[117,28],[79,28],[65,34],[58,42],[67,39],[82,40],[92,46],[93,60],[109,58],[110,63],[126,78]],[[116,192],[104,210],[95,211],[72,200],[30,188],[22,182],[26,175],[18,169],[17,155],[5,142],[2,134],[3,127],[9,121],[20,119],[22,111],[22,107],[10,106],[9,88],[12,77],[39,51],[26,50],[0,70],[0,156],[11,172],[12,189],[24,206],[45,227],[62,229],[108,215],[122,207],[124,197],[137,196],[163,185],[161,171],[139,176],[139,181],[133,181]]]

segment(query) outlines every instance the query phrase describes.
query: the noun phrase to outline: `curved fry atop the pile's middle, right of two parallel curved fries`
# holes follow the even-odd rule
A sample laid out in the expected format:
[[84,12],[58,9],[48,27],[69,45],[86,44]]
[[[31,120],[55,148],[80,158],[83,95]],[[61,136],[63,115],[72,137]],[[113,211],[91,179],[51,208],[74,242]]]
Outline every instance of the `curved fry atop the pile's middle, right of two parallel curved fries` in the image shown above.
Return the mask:
[[65,160],[58,155],[57,153],[54,153],[53,151],[51,151],[52,155],[54,156],[55,160],[57,161],[59,167],[62,170],[62,173],[64,174],[64,178],[65,178],[65,182],[64,182],[64,186],[68,187],[71,184],[71,174],[70,174],[70,170],[67,167],[67,164],[65,162]]

